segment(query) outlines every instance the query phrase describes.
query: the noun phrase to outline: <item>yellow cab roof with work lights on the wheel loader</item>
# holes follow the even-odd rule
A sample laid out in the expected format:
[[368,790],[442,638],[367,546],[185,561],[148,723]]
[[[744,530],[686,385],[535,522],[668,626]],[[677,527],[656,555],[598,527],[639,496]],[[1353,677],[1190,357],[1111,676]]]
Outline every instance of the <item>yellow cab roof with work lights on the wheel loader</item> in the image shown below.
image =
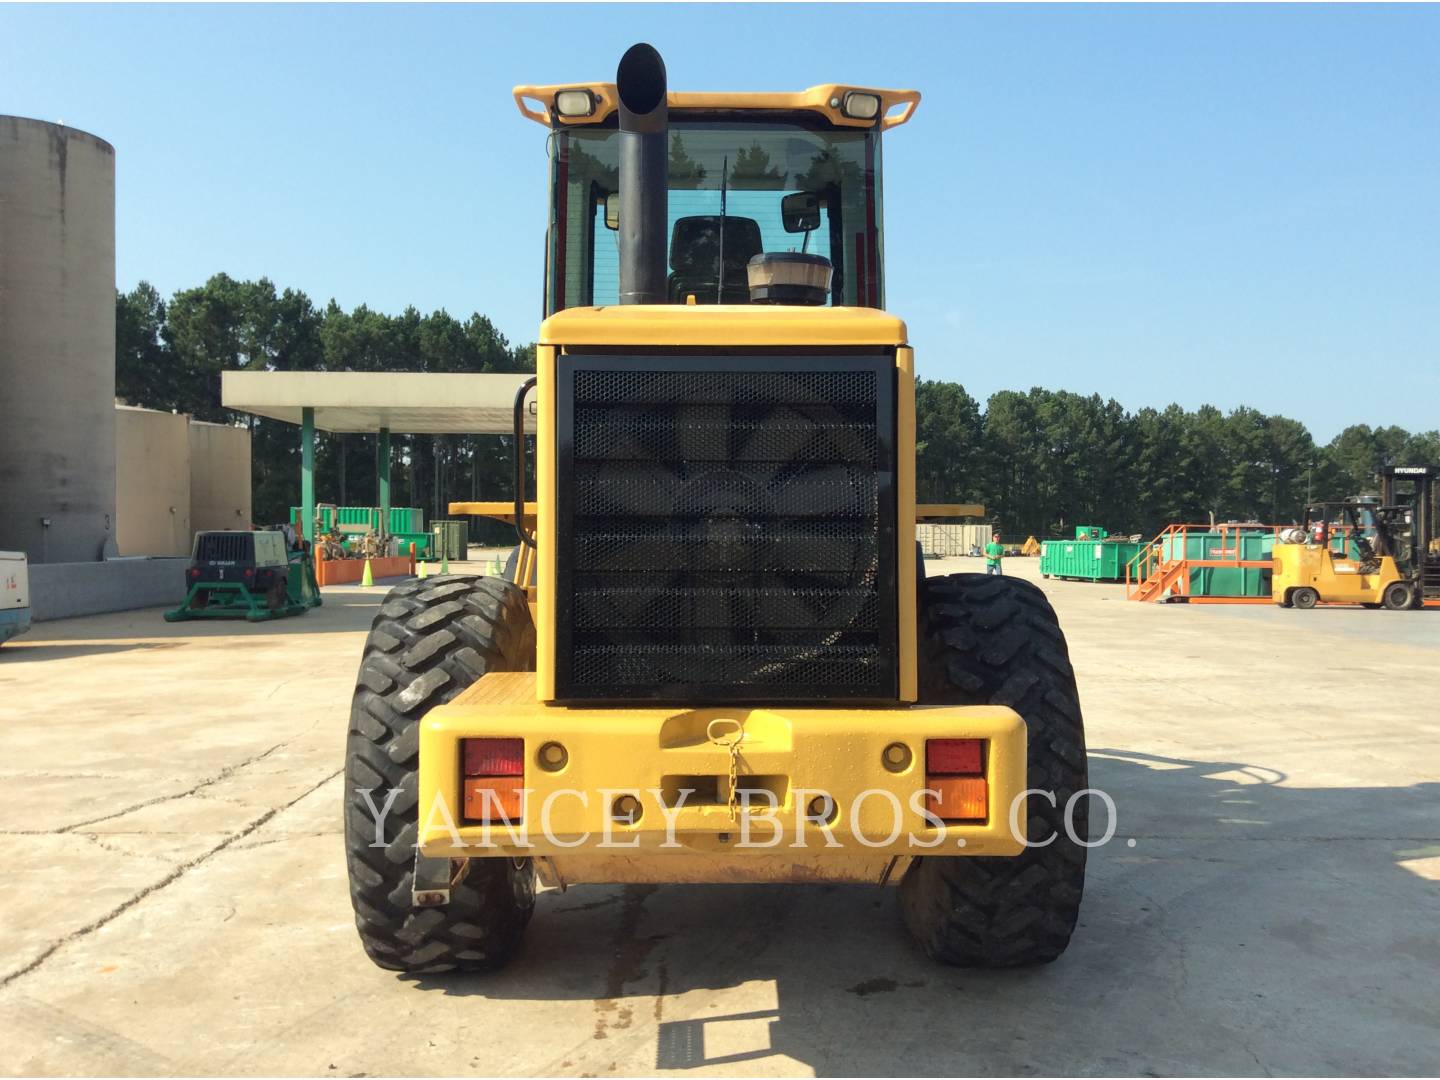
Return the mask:
[[[583,117],[560,115],[559,109],[554,107],[554,99],[562,91],[589,91],[595,101],[593,111]],[[878,121],[874,118],[858,120],[855,117],[847,117],[841,111],[841,102],[844,102],[845,95],[852,91],[874,94],[880,98]],[[613,82],[566,82],[553,86],[516,86],[514,96],[521,115],[527,120],[536,121],[537,124],[543,124],[547,128],[602,124],[619,105],[619,94],[616,94]],[[878,124],[881,131],[888,131],[890,128],[904,124],[912,115],[914,115],[916,105],[920,104],[920,91],[876,89],[873,86],[847,86],[834,82],[822,86],[811,86],[809,89],[799,91],[798,94],[772,94],[768,91],[670,91],[665,96],[670,102],[670,108],[677,112],[732,112],[747,109],[768,112],[815,112],[835,127],[870,128],[877,127]],[[894,115],[891,115],[893,111]]]

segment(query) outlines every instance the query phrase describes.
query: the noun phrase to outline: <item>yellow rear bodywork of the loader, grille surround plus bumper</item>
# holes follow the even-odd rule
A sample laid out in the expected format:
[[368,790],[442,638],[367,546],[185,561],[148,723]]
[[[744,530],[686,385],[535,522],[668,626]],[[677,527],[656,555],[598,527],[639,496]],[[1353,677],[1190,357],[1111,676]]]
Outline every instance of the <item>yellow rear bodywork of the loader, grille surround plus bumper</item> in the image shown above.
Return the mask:
[[[556,369],[566,350],[595,346],[893,350],[900,693],[891,707],[556,703]],[[1024,821],[1011,821],[1011,806],[1025,788],[1025,726],[1020,716],[992,706],[913,704],[919,667],[914,353],[901,320],[871,308],[569,308],[540,328],[536,377],[536,553],[527,557],[534,562],[537,671],[485,675],[452,703],[426,714],[419,776],[423,854],[528,855],[539,860],[541,878],[550,884],[880,883],[899,881],[899,863],[926,852],[1014,855],[1022,850]],[[451,513],[475,508],[454,504]],[[717,730],[720,739],[713,737]],[[524,740],[526,793],[518,831],[462,819],[461,740],[480,737]],[[919,812],[926,786],[924,742],[932,737],[985,740],[988,805],[982,819],[936,827]],[[747,793],[749,806],[730,805],[727,743],[733,739],[740,740],[733,763],[742,791],[736,793]],[[541,766],[537,755],[547,743],[564,747],[563,769]],[[910,755],[900,770],[883,759],[896,743]],[[680,788],[696,793],[684,806],[671,809],[665,801]],[[582,801],[576,792],[588,795]],[[811,798],[806,792],[834,798],[829,828],[804,821]],[[613,799],[622,793],[639,798],[642,814],[634,824],[613,819]]]

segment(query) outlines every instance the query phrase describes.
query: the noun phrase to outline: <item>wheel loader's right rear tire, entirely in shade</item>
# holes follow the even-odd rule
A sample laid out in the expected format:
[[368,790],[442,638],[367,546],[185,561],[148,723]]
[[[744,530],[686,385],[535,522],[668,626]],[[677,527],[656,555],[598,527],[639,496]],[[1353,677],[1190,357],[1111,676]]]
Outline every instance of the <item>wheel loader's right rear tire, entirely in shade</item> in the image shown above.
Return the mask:
[[[920,593],[920,704],[1009,706],[1025,721],[1031,841],[1012,858],[916,858],[900,910],[920,946],[945,963],[1014,968],[1066,950],[1080,913],[1086,848],[1066,832],[1071,795],[1089,786],[1084,724],[1066,638],[1045,595],[1015,577],[956,573]],[[1074,837],[1089,840],[1089,798]],[[999,808],[1001,814],[1009,808]]]

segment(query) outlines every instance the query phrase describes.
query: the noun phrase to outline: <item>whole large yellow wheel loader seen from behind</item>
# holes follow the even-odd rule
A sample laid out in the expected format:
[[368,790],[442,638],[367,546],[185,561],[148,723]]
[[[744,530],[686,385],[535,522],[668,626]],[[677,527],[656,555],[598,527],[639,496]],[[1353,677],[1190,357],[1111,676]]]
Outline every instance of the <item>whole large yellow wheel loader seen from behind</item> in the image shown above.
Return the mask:
[[399,586],[364,648],[346,845],[380,966],[500,966],[537,880],[886,886],[943,962],[1064,952],[1064,635],[914,541],[880,161],[919,99],[674,92],[648,45],[516,89],[550,166],[537,490],[510,575]]

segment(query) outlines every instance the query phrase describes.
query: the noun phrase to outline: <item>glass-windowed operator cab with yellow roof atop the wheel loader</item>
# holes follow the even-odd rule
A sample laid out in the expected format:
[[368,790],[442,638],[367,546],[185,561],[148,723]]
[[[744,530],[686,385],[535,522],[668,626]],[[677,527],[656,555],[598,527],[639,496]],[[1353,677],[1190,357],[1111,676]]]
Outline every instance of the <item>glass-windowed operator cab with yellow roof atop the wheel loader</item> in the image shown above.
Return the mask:
[[[554,102],[566,104],[567,94],[592,96],[595,109],[560,112]],[[802,252],[832,266],[827,302],[884,305],[881,132],[907,120],[919,95],[864,91],[884,109],[906,112],[857,120],[844,112],[854,94],[816,86],[802,94],[668,95],[661,193],[668,248],[657,302],[749,304],[753,256]],[[608,84],[526,86],[516,95],[527,117],[550,128],[544,312],[619,304],[625,132],[618,91]],[[809,212],[798,212],[801,206]]]

